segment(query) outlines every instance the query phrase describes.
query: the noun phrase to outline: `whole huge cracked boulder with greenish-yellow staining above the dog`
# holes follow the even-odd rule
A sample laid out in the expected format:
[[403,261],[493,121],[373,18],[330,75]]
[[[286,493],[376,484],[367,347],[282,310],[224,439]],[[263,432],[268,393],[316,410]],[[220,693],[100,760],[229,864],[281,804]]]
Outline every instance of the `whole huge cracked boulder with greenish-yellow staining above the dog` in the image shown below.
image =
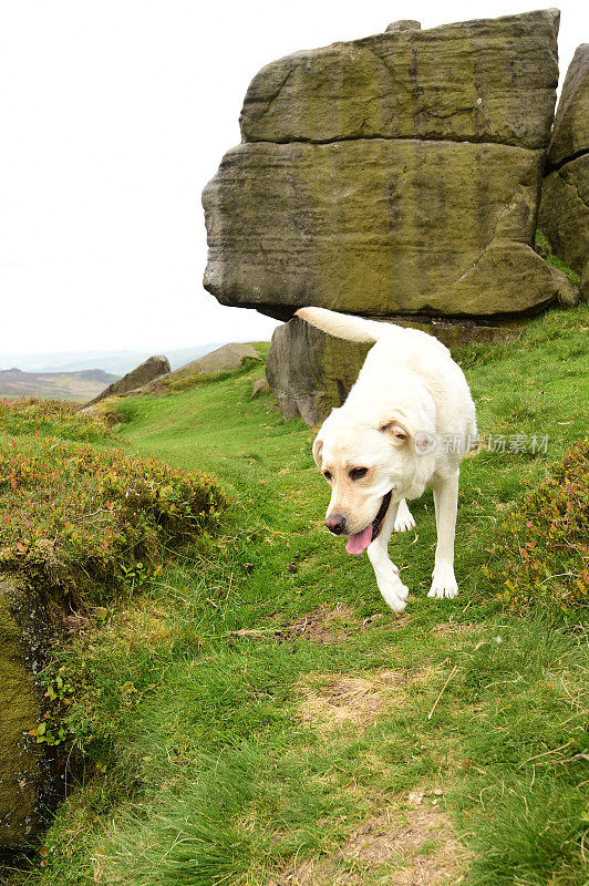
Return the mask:
[[205,287],[279,319],[554,299],[530,247],[557,29],[555,10],[410,27],[269,64],[246,95],[245,143],[204,192]]

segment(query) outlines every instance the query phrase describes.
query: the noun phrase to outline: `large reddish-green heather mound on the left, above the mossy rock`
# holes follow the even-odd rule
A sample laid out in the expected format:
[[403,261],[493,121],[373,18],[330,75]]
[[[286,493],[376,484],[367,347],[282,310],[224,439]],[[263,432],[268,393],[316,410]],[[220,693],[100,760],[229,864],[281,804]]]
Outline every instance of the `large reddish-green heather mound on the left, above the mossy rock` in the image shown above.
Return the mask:
[[166,547],[213,526],[225,504],[214,478],[153,456],[8,437],[0,442],[0,568],[53,600],[58,591],[95,601],[141,579]]

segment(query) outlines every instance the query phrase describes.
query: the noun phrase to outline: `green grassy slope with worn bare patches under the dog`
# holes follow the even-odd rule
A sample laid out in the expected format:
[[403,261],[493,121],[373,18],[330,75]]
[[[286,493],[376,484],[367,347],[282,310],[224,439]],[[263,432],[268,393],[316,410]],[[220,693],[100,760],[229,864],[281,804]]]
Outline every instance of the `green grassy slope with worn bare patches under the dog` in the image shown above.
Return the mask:
[[260,368],[125,400],[128,451],[214,473],[234,501],[220,537],[170,554],[56,650],[82,763],[19,883],[585,883],[582,608],[558,576],[541,606],[514,606],[496,540],[587,433],[588,328],[587,308],[554,311],[523,341],[457,354],[487,443],[463,464],[461,596],[426,597],[426,493],[391,543],[401,618],[323,529],[313,434],[250,399]]

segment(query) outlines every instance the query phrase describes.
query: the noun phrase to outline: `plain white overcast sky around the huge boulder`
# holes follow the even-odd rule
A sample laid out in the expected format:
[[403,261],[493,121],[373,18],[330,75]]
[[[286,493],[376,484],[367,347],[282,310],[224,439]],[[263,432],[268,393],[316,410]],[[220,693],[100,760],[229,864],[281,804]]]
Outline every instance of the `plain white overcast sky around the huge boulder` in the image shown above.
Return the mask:
[[[200,192],[247,85],[299,49],[525,0],[0,0],[0,353],[268,338],[202,287]],[[561,80],[589,39],[564,0]]]

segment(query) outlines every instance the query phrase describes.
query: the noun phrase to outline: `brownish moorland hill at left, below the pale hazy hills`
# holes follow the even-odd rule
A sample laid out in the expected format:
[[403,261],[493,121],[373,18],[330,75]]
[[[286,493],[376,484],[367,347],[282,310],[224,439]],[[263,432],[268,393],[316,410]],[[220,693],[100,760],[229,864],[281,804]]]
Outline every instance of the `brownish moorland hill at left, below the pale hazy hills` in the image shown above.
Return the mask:
[[50,400],[85,402],[96,396],[118,375],[103,369],[82,372],[23,372],[0,370],[0,396],[44,396]]

